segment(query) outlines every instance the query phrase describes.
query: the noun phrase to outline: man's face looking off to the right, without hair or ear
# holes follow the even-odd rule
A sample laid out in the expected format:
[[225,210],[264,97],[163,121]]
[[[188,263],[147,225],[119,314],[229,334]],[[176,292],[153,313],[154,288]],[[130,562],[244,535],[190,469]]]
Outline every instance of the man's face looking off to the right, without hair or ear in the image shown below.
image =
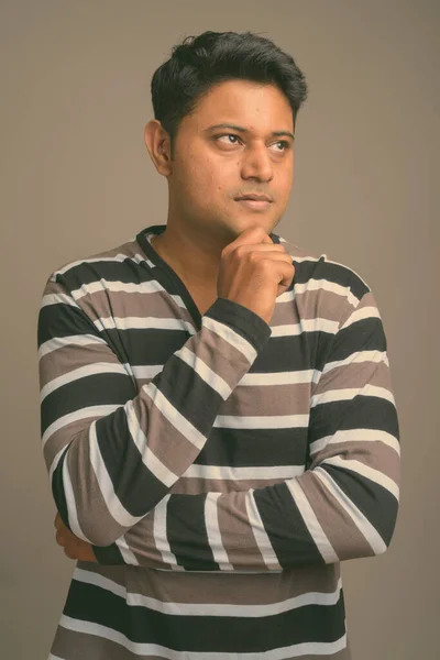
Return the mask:
[[[246,129],[210,127],[219,123]],[[261,224],[270,233],[287,206],[294,172],[292,108],[273,85],[228,80],[199,100],[182,121],[169,184],[169,219],[232,241]],[[272,199],[266,208],[235,200],[246,194]]]

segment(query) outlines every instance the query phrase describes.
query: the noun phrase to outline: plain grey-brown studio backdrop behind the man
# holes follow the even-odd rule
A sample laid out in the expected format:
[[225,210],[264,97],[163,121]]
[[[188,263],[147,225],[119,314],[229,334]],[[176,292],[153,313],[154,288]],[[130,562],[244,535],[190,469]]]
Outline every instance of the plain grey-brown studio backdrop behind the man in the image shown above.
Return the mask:
[[342,564],[353,660],[438,658],[440,2],[3,0],[0,11],[0,656],[47,657],[74,569],[55,542],[40,440],[44,283],[166,222],[166,180],[143,143],[151,77],[184,36],[251,30],[309,85],[274,231],[356,271],[388,341],[400,510],[385,554]]

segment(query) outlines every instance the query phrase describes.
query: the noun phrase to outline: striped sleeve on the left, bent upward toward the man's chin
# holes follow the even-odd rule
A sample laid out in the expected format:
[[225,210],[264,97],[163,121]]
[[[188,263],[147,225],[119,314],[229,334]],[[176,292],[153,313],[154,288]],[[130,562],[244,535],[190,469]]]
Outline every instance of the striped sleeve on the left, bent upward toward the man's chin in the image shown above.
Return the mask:
[[114,319],[94,320],[79,299],[62,274],[47,280],[37,338],[43,453],[65,525],[109,547],[191,465],[272,330],[248,308],[218,298],[199,332],[138,391],[107,340]]

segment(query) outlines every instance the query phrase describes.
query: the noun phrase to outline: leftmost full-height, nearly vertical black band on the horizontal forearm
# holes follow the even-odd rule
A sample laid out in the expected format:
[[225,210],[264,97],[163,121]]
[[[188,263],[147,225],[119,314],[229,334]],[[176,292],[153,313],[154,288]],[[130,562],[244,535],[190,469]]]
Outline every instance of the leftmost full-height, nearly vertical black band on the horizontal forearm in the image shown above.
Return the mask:
[[[205,524],[206,495],[173,494],[166,514],[166,534],[177,563],[187,570],[218,571]],[[180,518],[179,512],[185,510]],[[194,559],[196,557],[197,559]]]

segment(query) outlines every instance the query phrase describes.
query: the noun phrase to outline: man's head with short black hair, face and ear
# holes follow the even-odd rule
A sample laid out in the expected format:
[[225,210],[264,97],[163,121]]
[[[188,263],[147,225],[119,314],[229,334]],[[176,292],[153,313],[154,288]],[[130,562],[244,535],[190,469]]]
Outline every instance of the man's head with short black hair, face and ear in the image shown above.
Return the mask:
[[[251,32],[205,32],[175,46],[154,73],[155,119],[145,127],[150,155],[168,180],[168,224],[221,242],[255,223],[270,233],[288,202],[289,134],[306,97],[294,59]],[[248,194],[272,204],[255,210],[237,201]]]

